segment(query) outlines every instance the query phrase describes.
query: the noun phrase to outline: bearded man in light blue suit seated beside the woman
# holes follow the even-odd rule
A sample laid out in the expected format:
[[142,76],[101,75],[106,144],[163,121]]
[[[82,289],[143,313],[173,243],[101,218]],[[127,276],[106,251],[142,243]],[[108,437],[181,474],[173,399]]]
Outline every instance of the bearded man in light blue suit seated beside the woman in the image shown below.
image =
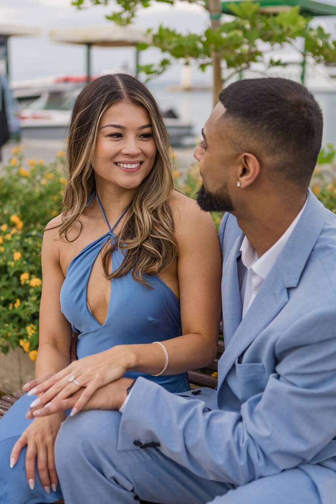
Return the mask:
[[128,396],[125,378],[99,389],[89,408],[121,414],[62,425],[65,502],[336,502],[336,216],[308,190],[322,122],[286,79],[221,93],[195,150],[200,206],[227,211],[218,391],[181,397],[144,378]]

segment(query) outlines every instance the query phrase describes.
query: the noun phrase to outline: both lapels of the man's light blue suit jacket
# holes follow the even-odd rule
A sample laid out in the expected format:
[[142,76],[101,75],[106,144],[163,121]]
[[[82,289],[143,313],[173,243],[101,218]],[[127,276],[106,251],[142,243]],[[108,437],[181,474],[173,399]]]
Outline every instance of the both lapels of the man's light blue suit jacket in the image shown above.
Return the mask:
[[235,360],[287,303],[287,289],[299,283],[325,222],[323,205],[310,190],[308,192],[309,200],[298,224],[243,320],[237,274],[237,257],[243,235],[235,241],[228,259],[224,258],[227,263],[223,266],[223,318],[224,330],[228,334],[225,336],[225,352],[218,366],[218,390]]

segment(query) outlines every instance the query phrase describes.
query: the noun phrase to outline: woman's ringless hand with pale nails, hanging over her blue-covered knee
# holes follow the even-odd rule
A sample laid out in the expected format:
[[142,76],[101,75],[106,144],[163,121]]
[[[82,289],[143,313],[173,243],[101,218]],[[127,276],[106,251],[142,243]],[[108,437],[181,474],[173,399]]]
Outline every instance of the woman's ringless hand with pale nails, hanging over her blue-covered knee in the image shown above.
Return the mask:
[[36,460],[37,471],[44,490],[50,493],[51,487],[54,492],[56,491],[54,444],[60,424],[65,417],[65,413],[60,412],[46,418],[35,418],[14,445],[10,458],[11,467],[17,463],[21,450],[27,446],[26,477],[31,490],[36,481]]

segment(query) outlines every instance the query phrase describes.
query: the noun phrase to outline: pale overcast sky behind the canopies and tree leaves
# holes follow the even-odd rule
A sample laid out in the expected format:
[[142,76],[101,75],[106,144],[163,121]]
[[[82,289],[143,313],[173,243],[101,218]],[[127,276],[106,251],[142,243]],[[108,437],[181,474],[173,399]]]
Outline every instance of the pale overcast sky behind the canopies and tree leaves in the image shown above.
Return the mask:
[[[336,5],[336,0],[329,0]],[[74,75],[85,73],[85,48],[70,44],[51,42],[48,32],[53,28],[96,26],[109,24],[105,14],[109,7],[90,6],[77,10],[71,0],[0,0],[0,22],[39,27],[39,37],[13,37],[10,40],[12,80],[32,79],[43,76]],[[209,15],[201,7],[180,2],[176,6],[156,4],[139,11],[135,26],[146,29],[158,27],[160,23],[183,31],[200,32],[209,25]],[[322,24],[328,29],[335,25],[335,18],[324,18]],[[117,70],[128,66],[133,69],[134,49],[93,48],[93,73]],[[155,62],[161,57],[157,49],[149,49],[141,55],[141,62]],[[163,77],[167,81],[179,82],[180,69],[174,67]],[[193,70],[194,81],[209,81],[210,73]]]

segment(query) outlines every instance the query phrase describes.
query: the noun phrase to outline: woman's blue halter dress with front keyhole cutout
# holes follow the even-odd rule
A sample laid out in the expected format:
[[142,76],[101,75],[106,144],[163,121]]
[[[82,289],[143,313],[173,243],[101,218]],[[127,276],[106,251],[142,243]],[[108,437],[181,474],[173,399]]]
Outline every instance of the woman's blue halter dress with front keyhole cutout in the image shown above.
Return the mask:
[[[92,195],[88,205],[95,194]],[[100,324],[91,313],[87,303],[87,285],[92,267],[102,247],[108,240],[116,239],[113,228],[109,226],[105,212],[96,195],[98,204],[108,226],[108,231],[87,245],[70,263],[60,292],[61,311],[79,333],[77,344],[78,358],[102,352],[115,345],[152,343],[164,341],[181,333],[179,300],[172,290],[156,275],[145,275],[152,287],[133,280],[131,272],[111,281],[110,301],[106,321]],[[112,271],[123,260],[123,251],[115,248],[112,254]],[[126,376],[136,378],[145,376],[170,392],[189,390],[186,373],[157,376],[129,371]],[[33,420],[25,414],[34,396],[22,396],[0,420],[0,503],[35,504],[55,502],[61,498],[59,485],[57,491],[47,494],[36,472],[34,490],[30,490],[25,474],[26,448],[19,460],[10,469],[10,454],[17,439]],[[97,426],[98,427],[98,426]]]

